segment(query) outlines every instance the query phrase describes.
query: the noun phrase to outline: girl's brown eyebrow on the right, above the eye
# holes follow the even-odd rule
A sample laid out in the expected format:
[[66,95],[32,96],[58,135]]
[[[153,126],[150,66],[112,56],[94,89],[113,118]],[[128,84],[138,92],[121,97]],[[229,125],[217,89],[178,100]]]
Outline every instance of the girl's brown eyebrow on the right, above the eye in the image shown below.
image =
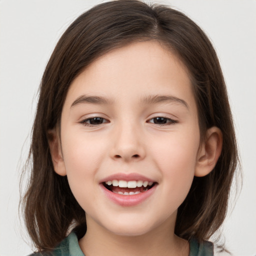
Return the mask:
[[185,100],[171,96],[171,95],[146,95],[141,100],[144,104],[156,104],[156,103],[178,103],[189,109]]

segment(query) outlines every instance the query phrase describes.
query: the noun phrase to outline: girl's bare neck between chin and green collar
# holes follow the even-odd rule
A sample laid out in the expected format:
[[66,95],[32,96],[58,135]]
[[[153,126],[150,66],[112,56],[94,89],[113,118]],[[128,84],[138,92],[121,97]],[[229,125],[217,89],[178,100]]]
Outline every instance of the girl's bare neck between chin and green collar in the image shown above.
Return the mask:
[[[175,221],[164,222],[141,235],[118,235],[87,219],[86,234],[79,246],[86,256],[187,256],[188,242],[174,234]],[[88,221],[89,220],[89,221]]]

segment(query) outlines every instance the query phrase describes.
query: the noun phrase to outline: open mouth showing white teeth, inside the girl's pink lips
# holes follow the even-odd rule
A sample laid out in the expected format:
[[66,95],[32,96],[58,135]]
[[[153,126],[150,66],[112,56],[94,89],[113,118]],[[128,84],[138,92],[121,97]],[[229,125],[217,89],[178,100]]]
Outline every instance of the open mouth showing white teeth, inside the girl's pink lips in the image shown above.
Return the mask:
[[107,180],[102,182],[103,186],[113,193],[132,195],[139,194],[152,188],[156,182],[144,180]]

